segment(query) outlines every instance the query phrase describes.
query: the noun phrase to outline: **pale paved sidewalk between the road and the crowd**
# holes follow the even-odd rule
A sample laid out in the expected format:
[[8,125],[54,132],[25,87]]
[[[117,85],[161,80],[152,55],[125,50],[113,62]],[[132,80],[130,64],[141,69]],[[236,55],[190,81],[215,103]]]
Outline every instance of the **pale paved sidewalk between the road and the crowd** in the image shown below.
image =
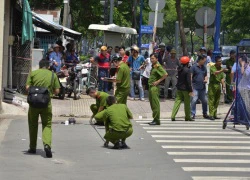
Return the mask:
[[[221,97],[222,99],[223,97]],[[90,105],[95,103],[95,100],[89,96],[82,95],[81,99],[73,100],[72,98],[68,100],[53,99],[53,115],[55,117],[61,116],[75,116],[81,118],[89,118],[92,115],[90,111]],[[161,101],[161,118],[170,118],[172,108],[174,106],[173,100]],[[152,111],[150,108],[149,101],[130,101],[128,100],[128,107],[132,111],[134,118],[152,118]],[[228,112],[230,105],[220,104],[218,108],[218,114],[226,114]],[[201,104],[197,104],[197,116],[202,115]],[[177,117],[184,117],[184,105],[182,104]]]

